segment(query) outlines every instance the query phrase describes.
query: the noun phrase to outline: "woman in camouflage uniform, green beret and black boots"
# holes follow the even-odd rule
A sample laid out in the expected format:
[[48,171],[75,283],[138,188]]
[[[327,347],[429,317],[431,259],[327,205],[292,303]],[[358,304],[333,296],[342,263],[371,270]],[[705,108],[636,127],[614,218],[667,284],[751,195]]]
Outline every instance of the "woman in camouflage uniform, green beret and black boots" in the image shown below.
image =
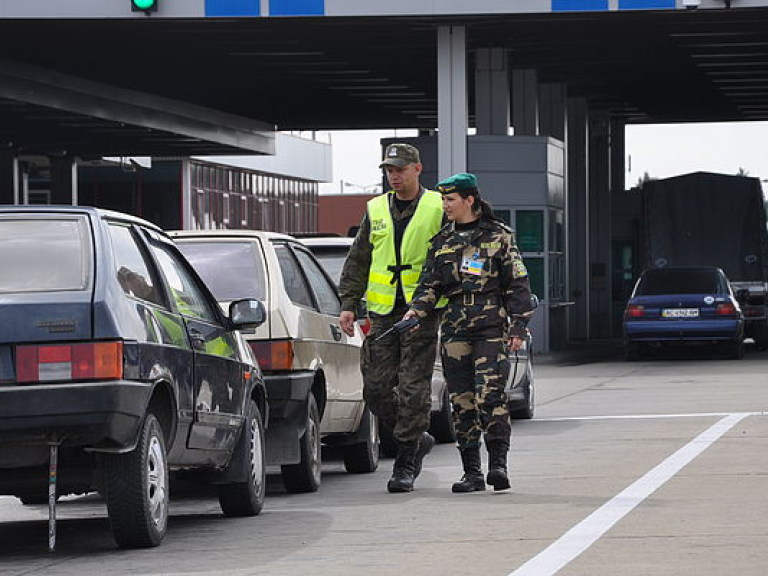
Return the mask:
[[507,476],[509,411],[504,384],[508,350],[522,346],[533,314],[528,272],[512,230],[480,199],[473,174],[436,186],[451,222],[432,238],[419,287],[405,317],[425,317],[438,298],[448,305],[441,325],[443,373],[451,397],[464,476],[453,492],[485,490],[480,439],[485,438],[494,490]]

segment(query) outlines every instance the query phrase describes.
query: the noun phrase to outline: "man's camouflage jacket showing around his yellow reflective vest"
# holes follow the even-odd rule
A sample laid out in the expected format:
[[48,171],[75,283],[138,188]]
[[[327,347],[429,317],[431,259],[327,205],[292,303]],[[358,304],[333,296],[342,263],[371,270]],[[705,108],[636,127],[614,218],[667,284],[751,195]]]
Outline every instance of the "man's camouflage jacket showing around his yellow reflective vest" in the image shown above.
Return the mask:
[[[416,212],[418,200],[424,194],[425,188],[422,186],[416,201],[403,210],[397,209],[394,202],[391,204],[392,220],[395,227],[402,231]],[[387,192],[389,193],[389,192]],[[347,259],[344,261],[344,267],[341,271],[339,280],[339,294],[341,296],[341,309],[358,313],[360,301],[365,296],[368,289],[368,272],[371,268],[371,255],[373,254],[373,244],[371,244],[371,224],[368,220],[368,210],[363,214],[360,222],[360,228],[355,236],[355,241],[349,249]],[[426,257],[426,255],[425,255]],[[391,264],[395,264],[392,262]]]

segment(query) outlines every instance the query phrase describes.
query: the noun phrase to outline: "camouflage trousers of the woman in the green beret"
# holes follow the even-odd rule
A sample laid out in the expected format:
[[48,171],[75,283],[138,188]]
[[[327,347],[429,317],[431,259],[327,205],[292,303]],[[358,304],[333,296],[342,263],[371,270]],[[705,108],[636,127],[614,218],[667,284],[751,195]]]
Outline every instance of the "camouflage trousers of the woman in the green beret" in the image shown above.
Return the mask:
[[441,344],[443,374],[453,409],[459,450],[480,438],[506,440],[512,434],[504,384],[509,374],[506,339],[454,335]]

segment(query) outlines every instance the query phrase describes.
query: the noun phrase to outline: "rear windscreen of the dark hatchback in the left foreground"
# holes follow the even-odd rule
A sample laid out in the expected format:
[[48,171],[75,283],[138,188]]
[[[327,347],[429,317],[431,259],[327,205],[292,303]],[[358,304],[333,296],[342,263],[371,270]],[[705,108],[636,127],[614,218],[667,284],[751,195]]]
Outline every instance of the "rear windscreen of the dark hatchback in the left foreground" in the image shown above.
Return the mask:
[[0,293],[85,290],[91,242],[84,217],[0,218]]

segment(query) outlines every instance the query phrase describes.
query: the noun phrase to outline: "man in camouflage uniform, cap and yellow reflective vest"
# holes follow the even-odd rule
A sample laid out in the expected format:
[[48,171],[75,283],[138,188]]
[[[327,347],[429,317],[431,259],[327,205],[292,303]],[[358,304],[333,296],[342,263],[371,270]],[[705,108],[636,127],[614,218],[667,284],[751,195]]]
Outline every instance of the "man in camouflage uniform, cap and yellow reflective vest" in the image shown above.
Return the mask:
[[397,444],[387,489],[410,492],[435,444],[427,429],[437,313],[425,315],[418,332],[385,333],[408,309],[429,240],[443,224],[443,211],[440,195],[419,183],[422,166],[416,148],[388,146],[380,168],[392,190],[368,202],[341,273],[339,322],[351,335],[355,312],[366,297],[371,330],[361,350],[363,393],[380,429]]

